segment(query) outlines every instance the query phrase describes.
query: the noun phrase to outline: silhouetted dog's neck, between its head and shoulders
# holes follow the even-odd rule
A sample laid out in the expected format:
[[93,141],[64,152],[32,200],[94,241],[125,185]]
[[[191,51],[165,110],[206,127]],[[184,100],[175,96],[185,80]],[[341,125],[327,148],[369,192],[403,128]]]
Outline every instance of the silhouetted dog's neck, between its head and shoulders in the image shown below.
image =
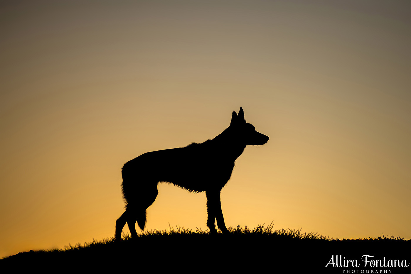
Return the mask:
[[219,147],[219,150],[228,152],[224,153],[224,155],[228,155],[233,160],[236,160],[247,146],[247,144],[238,140],[238,136],[235,135],[234,130],[230,127],[226,128],[211,141]]

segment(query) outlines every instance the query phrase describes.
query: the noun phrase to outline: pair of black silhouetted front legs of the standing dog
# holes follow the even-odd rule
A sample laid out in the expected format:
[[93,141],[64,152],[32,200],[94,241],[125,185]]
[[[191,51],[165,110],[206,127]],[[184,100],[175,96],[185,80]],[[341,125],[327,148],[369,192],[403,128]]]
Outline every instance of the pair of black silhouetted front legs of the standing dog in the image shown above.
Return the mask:
[[224,216],[221,210],[220,191],[205,191],[205,196],[207,196],[207,226],[210,228],[210,233],[217,233],[214,226],[215,219],[217,219],[217,226],[222,233],[228,233],[229,231],[224,223]]

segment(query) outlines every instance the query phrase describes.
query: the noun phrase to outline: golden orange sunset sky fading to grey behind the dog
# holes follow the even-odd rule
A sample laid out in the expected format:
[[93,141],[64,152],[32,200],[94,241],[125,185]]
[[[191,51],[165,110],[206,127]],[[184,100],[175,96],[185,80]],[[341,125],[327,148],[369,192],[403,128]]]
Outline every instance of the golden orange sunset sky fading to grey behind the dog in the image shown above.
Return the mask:
[[[240,106],[270,140],[236,161],[227,227],[410,239],[410,11],[2,1],[0,258],[113,237],[123,164],[212,139]],[[204,193],[158,189],[146,229],[207,229]]]

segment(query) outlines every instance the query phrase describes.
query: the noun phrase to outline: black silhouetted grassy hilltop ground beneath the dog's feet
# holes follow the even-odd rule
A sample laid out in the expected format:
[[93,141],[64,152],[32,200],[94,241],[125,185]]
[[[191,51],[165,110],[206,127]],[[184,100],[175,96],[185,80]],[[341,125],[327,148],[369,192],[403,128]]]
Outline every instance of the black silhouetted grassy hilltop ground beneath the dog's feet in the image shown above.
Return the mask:
[[[123,235],[121,242],[115,242],[111,237],[91,243],[69,244],[64,249],[21,252],[0,260],[0,265],[14,269],[40,267],[41,270],[64,270],[67,267],[72,270],[107,267],[141,270],[148,267],[152,271],[220,269],[224,272],[270,270],[293,273],[318,270],[320,273],[343,273],[342,270],[353,268],[325,267],[331,256],[342,255],[361,262],[361,256],[368,254],[374,258],[401,261],[409,259],[411,246],[409,240],[400,237],[339,240],[317,233],[302,233],[301,229],[273,230],[272,225],[253,229],[238,226],[229,228],[229,231],[228,235],[210,235],[208,230],[180,227],[147,231],[136,238]],[[395,268],[395,273],[406,271],[409,272],[409,268]]]

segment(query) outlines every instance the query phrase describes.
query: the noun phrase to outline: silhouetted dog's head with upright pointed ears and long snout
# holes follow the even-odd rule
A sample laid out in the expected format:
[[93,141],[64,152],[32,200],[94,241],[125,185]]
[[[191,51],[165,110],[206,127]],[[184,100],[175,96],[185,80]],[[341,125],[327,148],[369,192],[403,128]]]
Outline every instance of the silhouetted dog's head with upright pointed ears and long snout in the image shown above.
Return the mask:
[[240,140],[246,145],[264,145],[270,138],[256,131],[252,124],[245,122],[244,111],[241,107],[240,111],[238,111],[238,115],[233,111],[230,127],[232,128],[233,133],[236,134],[235,137],[237,140]]

